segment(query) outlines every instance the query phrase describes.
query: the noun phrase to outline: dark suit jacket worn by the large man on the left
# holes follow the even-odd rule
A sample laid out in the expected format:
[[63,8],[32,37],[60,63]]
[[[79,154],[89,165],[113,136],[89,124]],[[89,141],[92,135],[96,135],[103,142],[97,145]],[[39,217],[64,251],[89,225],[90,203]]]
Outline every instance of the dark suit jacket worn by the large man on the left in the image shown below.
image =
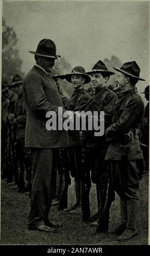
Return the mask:
[[33,148],[61,148],[68,145],[67,131],[46,129],[46,113],[54,111],[63,102],[52,79],[38,66],[33,66],[23,82],[23,95],[27,111],[25,146]]

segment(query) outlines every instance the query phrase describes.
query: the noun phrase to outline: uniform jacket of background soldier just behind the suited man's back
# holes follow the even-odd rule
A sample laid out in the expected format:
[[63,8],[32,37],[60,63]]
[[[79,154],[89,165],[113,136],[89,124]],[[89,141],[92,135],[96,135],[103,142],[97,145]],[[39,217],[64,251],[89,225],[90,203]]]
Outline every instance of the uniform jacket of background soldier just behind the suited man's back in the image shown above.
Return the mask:
[[15,102],[15,118],[17,123],[16,139],[24,138],[27,118],[22,95],[19,96],[18,100]]

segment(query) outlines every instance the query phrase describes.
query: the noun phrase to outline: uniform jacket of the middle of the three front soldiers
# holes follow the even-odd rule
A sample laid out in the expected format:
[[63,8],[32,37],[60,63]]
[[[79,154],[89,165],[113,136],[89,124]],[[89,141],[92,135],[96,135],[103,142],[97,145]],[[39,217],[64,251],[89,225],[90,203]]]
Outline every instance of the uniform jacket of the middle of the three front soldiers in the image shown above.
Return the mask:
[[[111,124],[112,109],[117,101],[117,94],[107,87],[96,89],[95,95],[85,106],[84,111],[104,111],[105,129]],[[87,132],[87,147],[104,148],[106,144],[105,136],[95,137],[93,131]]]

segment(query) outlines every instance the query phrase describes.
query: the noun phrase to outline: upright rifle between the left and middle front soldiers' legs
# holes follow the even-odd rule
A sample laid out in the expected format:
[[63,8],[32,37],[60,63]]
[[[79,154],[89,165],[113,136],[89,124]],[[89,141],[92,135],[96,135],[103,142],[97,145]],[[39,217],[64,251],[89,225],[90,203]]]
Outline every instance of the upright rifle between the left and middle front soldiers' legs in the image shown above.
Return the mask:
[[86,140],[83,141],[83,148],[82,148],[82,220],[88,221],[91,217],[90,211],[90,188],[91,188],[91,178],[89,167],[87,164],[87,148],[86,148]]

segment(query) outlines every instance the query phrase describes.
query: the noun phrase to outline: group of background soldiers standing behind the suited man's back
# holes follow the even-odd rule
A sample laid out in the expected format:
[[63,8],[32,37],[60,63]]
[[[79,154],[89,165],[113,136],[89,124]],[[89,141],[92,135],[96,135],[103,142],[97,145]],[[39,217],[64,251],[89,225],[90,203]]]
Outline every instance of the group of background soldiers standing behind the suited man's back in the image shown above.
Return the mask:
[[2,179],[18,192],[30,192],[32,157],[24,147],[26,108],[23,77],[16,74],[12,83],[2,84]]

